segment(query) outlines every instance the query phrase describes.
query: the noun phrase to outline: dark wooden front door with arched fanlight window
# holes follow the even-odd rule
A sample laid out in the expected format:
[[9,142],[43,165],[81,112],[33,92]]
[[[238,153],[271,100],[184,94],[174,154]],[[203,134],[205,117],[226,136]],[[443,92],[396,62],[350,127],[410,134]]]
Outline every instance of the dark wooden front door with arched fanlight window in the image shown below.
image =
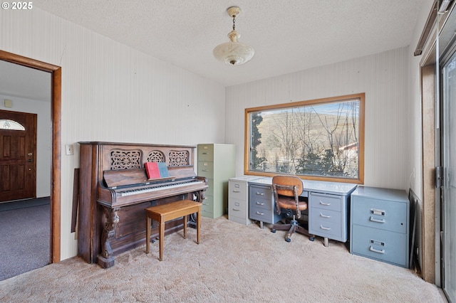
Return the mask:
[[0,203],[36,198],[36,114],[0,110]]

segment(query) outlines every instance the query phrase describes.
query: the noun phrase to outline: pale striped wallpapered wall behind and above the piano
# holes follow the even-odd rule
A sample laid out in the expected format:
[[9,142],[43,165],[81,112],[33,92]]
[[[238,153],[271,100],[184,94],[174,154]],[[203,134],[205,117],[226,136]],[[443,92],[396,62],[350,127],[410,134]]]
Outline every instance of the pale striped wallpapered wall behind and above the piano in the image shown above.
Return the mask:
[[[33,8],[0,11],[0,50],[62,67],[61,260],[71,230],[79,141],[224,142],[224,87]],[[63,149],[64,150],[64,149]]]

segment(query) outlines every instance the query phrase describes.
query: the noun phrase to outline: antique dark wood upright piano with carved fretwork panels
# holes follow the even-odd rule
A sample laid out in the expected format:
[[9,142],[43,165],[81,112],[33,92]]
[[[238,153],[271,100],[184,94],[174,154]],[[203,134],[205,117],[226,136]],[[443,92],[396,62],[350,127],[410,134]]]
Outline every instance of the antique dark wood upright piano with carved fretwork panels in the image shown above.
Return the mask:
[[[207,179],[195,174],[194,146],[78,143],[78,255],[86,262],[112,267],[115,255],[144,245],[145,208],[204,199]],[[147,179],[145,162],[165,162],[170,176]],[[166,234],[174,233],[183,228],[183,219],[165,228]],[[154,222],[151,238],[157,235]]]

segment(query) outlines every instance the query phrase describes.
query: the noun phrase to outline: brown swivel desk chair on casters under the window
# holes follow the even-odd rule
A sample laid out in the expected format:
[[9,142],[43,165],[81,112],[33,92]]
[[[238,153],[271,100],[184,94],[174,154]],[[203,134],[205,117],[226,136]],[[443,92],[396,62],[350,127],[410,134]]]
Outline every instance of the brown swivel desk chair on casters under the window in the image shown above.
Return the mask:
[[275,233],[276,230],[289,230],[286,235],[286,242],[291,241],[291,235],[294,232],[308,235],[311,241],[314,240],[314,235],[310,235],[309,231],[298,224],[295,216],[301,218],[302,212],[307,209],[306,201],[299,201],[299,196],[303,192],[302,181],[296,176],[274,176],[272,178],[272,190],[274,192],[274,201],[277,214],[281,214],[282,210],[293,219],[289,224],[274,224],[271,232]]

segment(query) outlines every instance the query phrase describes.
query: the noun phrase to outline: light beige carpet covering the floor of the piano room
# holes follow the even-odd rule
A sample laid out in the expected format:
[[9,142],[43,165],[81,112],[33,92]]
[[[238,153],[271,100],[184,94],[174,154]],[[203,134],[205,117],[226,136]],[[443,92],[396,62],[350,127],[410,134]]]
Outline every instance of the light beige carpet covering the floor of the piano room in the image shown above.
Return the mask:
[[268,225],[202,219],[116,257],[109,269],[78,257],[0,282],[1,302],[445,302],[413,270],[351,255],[347,244],[304,235],[284,240]]

